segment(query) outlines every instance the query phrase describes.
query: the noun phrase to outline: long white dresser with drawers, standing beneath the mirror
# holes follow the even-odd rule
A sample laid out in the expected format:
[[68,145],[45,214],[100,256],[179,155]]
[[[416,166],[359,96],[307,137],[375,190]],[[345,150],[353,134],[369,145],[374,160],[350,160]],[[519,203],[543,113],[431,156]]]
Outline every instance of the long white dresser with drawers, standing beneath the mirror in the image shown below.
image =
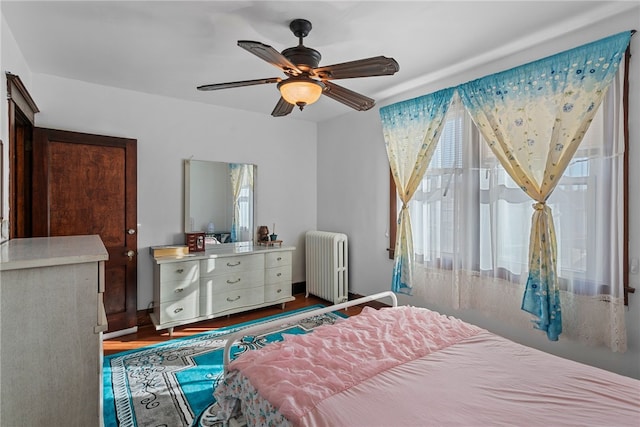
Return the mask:
[[293,301],[295,247],[246,243],[207,247],[182,257],[155,257],[153,313],[156,329]]

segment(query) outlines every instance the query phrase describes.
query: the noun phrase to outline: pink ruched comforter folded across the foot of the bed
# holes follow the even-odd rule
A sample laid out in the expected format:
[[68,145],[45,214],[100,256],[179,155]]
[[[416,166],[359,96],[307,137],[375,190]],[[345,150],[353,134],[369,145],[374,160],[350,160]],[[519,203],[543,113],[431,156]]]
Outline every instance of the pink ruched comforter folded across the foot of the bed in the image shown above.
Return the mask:
[[[341,322],[343,333],[336,335],[332,328],[335,326],[287,336],[283,342],[243,354],[229,369],[241,371],[263,397],[298,424],[323,400],[483,331],[455,318],[406,306],[365,307],[360,315]],[[298,341],[310,344],[296,345]]]

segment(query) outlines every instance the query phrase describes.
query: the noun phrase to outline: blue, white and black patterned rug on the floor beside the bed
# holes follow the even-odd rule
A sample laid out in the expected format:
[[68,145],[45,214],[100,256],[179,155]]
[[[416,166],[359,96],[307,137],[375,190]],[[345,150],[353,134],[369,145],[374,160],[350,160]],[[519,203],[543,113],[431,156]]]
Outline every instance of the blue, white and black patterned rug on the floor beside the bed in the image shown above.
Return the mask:
[[[315,305],[138,350],[104,357],[105,427],[221,426],[213,388],[222,374],[226,338],[258,323],[292,316]],[[244,337],[232,349],[240,354],[282,339],[282,333],[304,334],[344,317],[328,313],[280,326],[264,335]],[[235,350],[234,350],[235,349]]]

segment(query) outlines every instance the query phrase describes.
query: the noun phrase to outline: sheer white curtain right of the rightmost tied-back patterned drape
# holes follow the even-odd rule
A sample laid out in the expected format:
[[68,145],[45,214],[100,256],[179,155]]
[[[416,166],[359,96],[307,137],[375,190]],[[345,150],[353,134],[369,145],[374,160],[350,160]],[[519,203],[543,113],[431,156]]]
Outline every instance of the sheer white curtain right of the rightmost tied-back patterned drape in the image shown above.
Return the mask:
[[570,313],[563,318],[565,333],[620,352],[627,348],[622,68],[549,199],[557,218],[561,300]]

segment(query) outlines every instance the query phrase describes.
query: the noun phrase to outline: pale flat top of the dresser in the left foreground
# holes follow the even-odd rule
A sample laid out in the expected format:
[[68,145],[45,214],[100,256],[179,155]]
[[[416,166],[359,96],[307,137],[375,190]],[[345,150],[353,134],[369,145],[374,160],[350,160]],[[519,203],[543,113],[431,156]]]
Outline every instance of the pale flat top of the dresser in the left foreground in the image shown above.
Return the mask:
[[106,261],[100,236],[11,239],[0,244],[0,271]]

